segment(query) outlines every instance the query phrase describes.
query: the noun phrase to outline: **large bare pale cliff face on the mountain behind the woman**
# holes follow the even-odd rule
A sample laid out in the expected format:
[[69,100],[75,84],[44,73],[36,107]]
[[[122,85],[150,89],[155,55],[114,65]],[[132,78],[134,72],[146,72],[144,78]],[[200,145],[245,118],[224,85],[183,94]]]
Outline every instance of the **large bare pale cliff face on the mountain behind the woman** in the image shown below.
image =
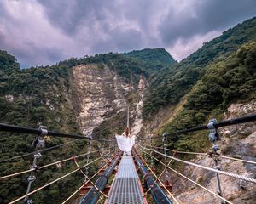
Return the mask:
[[134,89],[107,65],[75,66],[72,82],[70,97],[84,135],[113,113],[124,111],[125,95]]

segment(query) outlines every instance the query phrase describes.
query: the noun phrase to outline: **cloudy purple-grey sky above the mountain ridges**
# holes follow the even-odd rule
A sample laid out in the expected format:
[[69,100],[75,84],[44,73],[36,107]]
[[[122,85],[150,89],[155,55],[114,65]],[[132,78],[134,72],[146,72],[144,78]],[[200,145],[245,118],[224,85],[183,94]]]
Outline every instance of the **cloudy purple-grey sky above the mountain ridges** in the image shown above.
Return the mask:
[[142,48],[181,60],[253,16],[255,0],[1,0],[0,49],[22,67]]

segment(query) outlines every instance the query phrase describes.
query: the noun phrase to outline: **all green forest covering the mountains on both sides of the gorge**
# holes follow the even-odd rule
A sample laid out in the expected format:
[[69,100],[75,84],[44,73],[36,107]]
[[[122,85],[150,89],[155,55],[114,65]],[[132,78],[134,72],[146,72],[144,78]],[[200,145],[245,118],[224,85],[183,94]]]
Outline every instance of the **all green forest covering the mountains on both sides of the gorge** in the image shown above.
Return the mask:
[[[204,44],[202,48],[187,59],[177,63],[164,49],[143,49],[126,54],[96,54],[81,59],[68,59],[52,66],[31,67],[20,70],[14,56],[0,51],[0,122],[25,127],[47,125],[50,130],[80,133],[75,110],[70,105],[70,79],[75,65],[103,65],[116,71],[125,82],[137,84],[140,75],[152,80],[145,97],[143,116],[150,118],[161,107],[177,105],[185,96],[183,109],[162,131],[194,127],[207,121],[209,117],[221,118],[223,111],[233,101],[255,99],[256,95],[256,18],[247,20],[220,37]],[[127,95],[129,101],[135,93]],[[147,116],[147,117],[146,117]],[[120,112],[113,121],[125,118]],[[122,120],[116,129],[107,128],[111,121],[102,122],[96,132],[98,138],[121,131]],[[1,161],[12,156],[32,152],[32,136],[24,134],[1,133]],[[46,147],[66,142],[67,139],[49,139]],[[196,142],[195,142],[196,141]],[[169,145],[182,150],[199,150],[206,146],[204,133],[190,137],[173,138]],[[68,156],[86,152],[84,142],[63,146],[58,150],[45,152],[39,163],[60,160]],[[29,159],[28,159],[29,158]],[[31,164],[32,156],[8,162],[0,162],[2,175],[25,170]],[[52,167],[37,174],[38,180],[33,188],[46,184],[73,169],[73,163],[63,167]],[[91,167],[90,173],[96,170]],[[0,202],[6,203],[23,195],[26,191],[27,174],[0,182]],[[21,179],[20,179],[21,178]],[[32,198],[37,203],[48,203],[48,197],[55,197],[55,203],[71,195],[83,178],[74,175],[59,185],[41,191]],[[51,201],[51,203],[54,203]]]

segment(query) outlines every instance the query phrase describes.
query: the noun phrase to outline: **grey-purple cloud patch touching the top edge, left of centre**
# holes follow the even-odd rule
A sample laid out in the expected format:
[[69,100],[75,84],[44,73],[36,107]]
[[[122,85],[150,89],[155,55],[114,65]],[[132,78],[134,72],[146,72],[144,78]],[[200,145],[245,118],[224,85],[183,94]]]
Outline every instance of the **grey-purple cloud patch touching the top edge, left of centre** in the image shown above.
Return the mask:
[[38,3],[44,6],[44,11],[49,21],[57,27],[60,27],[68,35],[73,35],[81,26],[93,26],[95,22],[104,24],[107,18],[106,14],[113,11],[116,14],[118,10],[114,8],[114,2],[109,3],[101,0],[44,0]]

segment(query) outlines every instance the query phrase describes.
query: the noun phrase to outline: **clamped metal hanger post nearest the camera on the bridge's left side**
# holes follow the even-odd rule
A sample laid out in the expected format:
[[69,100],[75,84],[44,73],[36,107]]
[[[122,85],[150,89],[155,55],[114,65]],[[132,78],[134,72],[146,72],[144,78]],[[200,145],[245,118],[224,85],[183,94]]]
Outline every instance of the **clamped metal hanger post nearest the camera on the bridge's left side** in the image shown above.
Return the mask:
[[[30,173],[30,176],[27,178],[28,185],[27,185],[27,189],[26,189],[26,194],[28,194],[30,192],[31,187],[32,187],[32,182],[34,182],[36,180],[36,177],[34,175],[34,171],[38,169],[37,161],[41,157],[41,154],[40,154],[39,150],[44,148],[44,144],[45,144],[44,136],[46,136],[47,133],[48,133],[47,132],[47,127],[40,126],[38,129],[41,130],[42,132],[32,142],[32,146],[36,149],[36,153],[34,154],[34,158],[33,158],[33,161],[32,161],[32,166],[30,167],[30,169],[32,169],[32,172]],[[29,199],[29,197],[26,196],[25,202],[27,204],[32,204],[32,199]]]

